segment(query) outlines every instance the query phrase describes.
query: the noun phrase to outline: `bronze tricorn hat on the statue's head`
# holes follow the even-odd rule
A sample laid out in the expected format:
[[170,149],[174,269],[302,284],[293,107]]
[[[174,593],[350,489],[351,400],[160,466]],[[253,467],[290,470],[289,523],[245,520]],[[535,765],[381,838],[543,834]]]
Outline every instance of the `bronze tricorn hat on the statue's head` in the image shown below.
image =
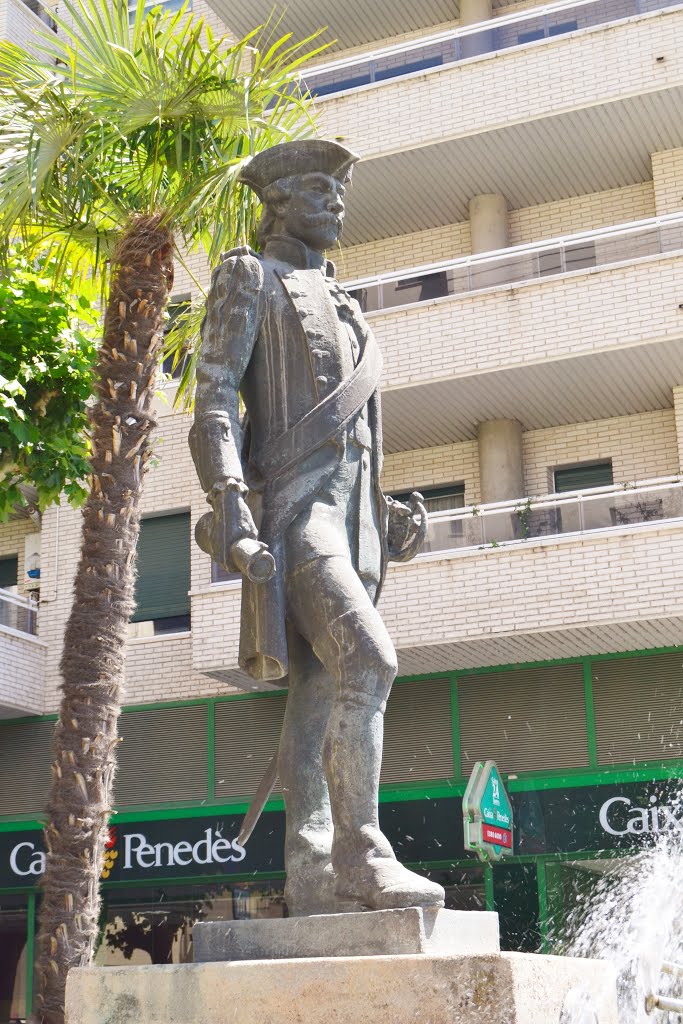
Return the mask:
[[338,142],[323,138],[304,138],[295,142],[281,142],[269,150],[257,153],[240,172],[244,181],[259,199],[273,181],[289,178],[295,174],[311,174],[315,171],[330,174],[338,181],[348,181],[353,164],[359,158]]

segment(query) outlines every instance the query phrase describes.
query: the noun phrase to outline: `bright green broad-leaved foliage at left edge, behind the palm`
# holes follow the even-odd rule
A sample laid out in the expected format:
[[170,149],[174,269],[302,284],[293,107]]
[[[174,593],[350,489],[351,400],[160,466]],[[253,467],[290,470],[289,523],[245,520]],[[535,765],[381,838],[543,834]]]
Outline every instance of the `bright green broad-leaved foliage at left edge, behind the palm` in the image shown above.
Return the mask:
[[63,492],[87,496],[86,400],[92,389],[95,316],[90,300],[53,286],[15,251],[0,274],[0,520]]

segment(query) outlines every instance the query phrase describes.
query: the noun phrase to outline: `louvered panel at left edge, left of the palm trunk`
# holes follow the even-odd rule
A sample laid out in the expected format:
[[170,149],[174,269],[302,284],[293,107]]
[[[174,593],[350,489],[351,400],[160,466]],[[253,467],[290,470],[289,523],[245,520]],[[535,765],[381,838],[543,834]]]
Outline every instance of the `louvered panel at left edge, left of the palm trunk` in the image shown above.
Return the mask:
[[0,726],[0,814],[42,814],[50,785],[54,722]]

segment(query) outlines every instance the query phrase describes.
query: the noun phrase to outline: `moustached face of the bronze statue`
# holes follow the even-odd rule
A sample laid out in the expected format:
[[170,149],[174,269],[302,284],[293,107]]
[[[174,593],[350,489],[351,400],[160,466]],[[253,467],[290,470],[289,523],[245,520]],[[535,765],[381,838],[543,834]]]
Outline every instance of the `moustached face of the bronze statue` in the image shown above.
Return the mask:
[[287,234],[324,252],[339,240],[344,221],[344,186],[329,174],[301,174],[281,214]]

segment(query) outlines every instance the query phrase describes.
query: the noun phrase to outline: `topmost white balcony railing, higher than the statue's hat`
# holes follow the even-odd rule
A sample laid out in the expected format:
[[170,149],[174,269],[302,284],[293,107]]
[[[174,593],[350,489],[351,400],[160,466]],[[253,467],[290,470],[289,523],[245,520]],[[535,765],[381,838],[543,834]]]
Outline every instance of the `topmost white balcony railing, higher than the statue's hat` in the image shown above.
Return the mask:
[[329,96],[375,82],[402,78],[429,68],[458,63],[484,53],[525,46],[540,39],[622,22],[681,0],[573,0],[508,14],[475,26],[383,47],[307,71],[304,88],[314,96]]

